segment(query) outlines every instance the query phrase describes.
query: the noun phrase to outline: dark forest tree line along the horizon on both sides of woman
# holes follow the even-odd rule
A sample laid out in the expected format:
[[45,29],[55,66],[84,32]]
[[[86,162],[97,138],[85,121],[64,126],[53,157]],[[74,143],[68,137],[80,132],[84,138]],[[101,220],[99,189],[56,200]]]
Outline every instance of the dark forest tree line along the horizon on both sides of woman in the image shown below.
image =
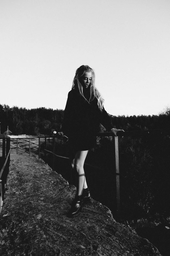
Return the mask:
[[[110,115],[112,124],[126,131],[148,130],[170,128],[170,108],[159,115]],[[1,133],[8,129],[13,135],[27,134],[51,135],[53,130],[60,130],[64,118],[62,109],[46,109],[44,107],[36,109],[26,109],[0,104]],[[101,131],[106,131],[101,126]]]

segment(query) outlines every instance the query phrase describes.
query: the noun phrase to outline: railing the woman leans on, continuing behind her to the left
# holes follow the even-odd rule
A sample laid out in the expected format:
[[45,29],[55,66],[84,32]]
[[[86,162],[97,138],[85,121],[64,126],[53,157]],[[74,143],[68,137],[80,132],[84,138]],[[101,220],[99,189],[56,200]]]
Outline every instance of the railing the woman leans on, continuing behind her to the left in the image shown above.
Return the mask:
[[[113,172],[116,175],[116,202],[117,202],[117,214],[120,213],[120,179],[119,179],[119,150],[118,150],[118,137],[124,137],[124,136],[133,136],[133,137],[141,137],[141,136],[149,136],[149,135],[168,135],[170,134],[170,129],[155,129],[155,130],[144,130],[144,131],[127,131],[127,132],[118,132],[117,137],[114,136],[112,132],[104,132],[104,133],[97,133],[98,137],[112,137],[113,141],[113,157],[114,157],[114,163],[113,163]],[[65,158],[67,157],[59,156],[55,154],[55,136],[37,136],[37,137],[20,137],[17,138],[17,154],[18,154],[18,139],[29,139],[29,155],[30,155],[30,139],[31,138],[38,138],[38,158],[40,158],[40,138],[45,139],[45,152],[49,152],[53,154],[53,161],[52,161],[52,170],[54,170],[54,164],[55,164],[55,157]],[[47,138],[52,138],[52,151],[47,150]],[[16,138],[11,138],[16,139]],[[9,142],[10,145],[10,142]],[[7,149],[8,150],[8,149]],[[4,152],[4,151],[3,151]],[[9,152],[9,151],[7,151]],[[3,153],[4,154],[4,153]],[[10,156],[10,153],[9,153]],[[93,166],[91,164],[85,163],[86,165],[89,165],[93,168],[100,169],[98,166]]]

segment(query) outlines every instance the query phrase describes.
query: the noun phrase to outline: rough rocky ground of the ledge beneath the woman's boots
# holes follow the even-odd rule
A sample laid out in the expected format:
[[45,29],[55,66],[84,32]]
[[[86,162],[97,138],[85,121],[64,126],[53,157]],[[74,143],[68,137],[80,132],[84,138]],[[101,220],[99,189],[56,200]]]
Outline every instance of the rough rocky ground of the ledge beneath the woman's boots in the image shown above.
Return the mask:
[[68,218],[75,191],[41,159],[11,152],[0,216],[1,255],[161,255],[95,200]]

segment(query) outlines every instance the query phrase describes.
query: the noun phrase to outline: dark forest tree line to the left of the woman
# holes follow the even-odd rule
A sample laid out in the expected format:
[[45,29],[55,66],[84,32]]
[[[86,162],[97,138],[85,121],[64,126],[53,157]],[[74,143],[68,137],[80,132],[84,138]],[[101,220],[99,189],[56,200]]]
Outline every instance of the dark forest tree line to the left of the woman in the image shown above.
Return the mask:
[[13,135],[27,134],[50,135],[52,129],[58,130],[61,127],[64,117],[64,110],[61,109],[26,109],[0,104],[1,133],[8,129]]

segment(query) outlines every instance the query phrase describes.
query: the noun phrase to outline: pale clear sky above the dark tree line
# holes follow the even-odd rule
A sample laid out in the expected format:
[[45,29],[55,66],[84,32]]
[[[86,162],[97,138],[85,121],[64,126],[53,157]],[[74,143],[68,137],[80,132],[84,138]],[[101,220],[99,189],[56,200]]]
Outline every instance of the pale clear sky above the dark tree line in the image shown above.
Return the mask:
[[170,105],[169,0],[1,0],[0,35],[0,104],[64,109],[89,65],[112,115]]

